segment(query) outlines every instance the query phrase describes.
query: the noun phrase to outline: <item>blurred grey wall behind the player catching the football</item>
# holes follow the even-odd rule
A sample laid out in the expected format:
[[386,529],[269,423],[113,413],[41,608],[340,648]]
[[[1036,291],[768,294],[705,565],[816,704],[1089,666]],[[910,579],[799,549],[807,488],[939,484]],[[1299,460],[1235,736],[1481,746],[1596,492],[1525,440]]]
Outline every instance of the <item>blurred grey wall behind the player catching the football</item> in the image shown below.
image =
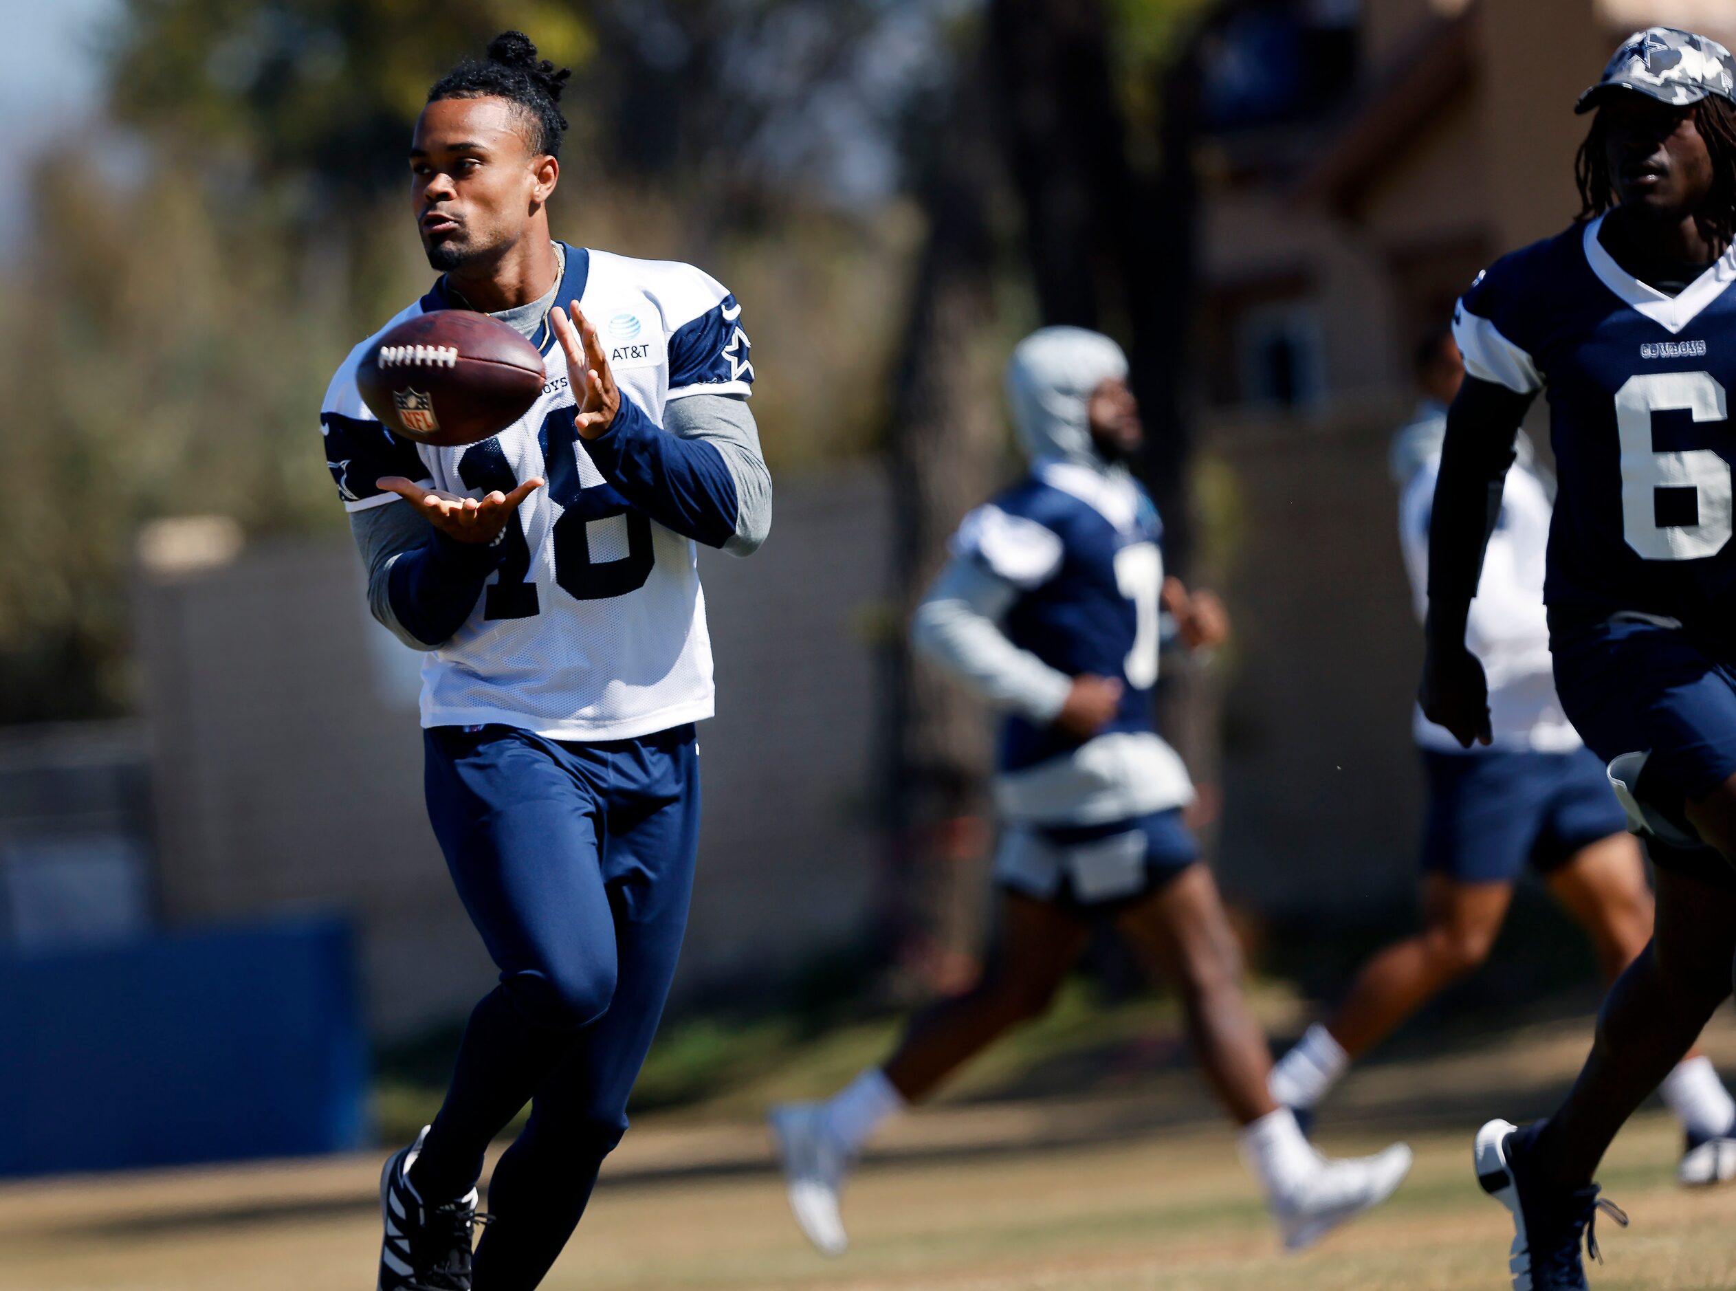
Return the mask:
[[[878,475],[840,472],[779,481],[752,560],[701,555],[719,717],[679,994],[779,984],[868,918],[885,529]],[[347,914],[377,1034],[462,1017],[495,968],[424,809],[422,656],[368,616],[349,536],[160,524],[135,625],[163,916]]]

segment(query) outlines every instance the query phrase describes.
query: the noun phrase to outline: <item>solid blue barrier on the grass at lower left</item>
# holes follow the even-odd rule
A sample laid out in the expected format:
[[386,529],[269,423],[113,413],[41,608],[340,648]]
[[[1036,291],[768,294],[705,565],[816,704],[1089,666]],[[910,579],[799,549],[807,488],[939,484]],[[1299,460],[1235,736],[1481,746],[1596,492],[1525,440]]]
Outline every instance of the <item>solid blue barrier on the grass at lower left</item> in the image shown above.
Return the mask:
[[366,1074],[342,920],[0,956],[0,1175],[361,1147]]

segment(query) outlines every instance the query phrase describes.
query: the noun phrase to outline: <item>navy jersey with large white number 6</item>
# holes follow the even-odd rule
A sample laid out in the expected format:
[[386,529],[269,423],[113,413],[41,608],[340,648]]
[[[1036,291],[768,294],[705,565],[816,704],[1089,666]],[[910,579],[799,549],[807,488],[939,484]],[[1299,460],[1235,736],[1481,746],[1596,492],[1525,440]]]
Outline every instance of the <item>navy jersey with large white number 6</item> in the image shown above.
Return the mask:
[[1554,633],[1637,611],[1736,642],[1724,626],[1736,592],[1736,248],[1668,297],[1614,262],[1601,227],[1496,260],[1458,302],[1453,335],[1472,377],[1549,397]]

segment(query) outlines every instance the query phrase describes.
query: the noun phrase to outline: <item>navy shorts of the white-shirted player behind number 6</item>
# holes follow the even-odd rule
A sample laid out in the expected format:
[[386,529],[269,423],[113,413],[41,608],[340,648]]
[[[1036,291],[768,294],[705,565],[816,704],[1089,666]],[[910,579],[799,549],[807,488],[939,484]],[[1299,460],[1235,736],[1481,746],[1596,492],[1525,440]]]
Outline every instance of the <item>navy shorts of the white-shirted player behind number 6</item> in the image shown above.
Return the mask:
[[1627,829],[1627,814],[1590,750],[1535,753],[1424,750],[1429,812],[1422,868],[1460,883],[1512,883]]

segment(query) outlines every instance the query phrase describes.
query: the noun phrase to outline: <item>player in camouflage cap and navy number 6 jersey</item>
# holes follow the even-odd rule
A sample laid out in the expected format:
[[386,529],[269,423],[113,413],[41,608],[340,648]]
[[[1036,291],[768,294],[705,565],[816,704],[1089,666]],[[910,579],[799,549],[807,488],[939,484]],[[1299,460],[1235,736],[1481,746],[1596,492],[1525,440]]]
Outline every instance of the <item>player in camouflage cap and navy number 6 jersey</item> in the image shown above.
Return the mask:
[[[1578,111],[1583,213],[1498,260],[1460,300],[1469,378],[1448,413],[1429,536],[1424,710],[1489,739],[1465,647],[1514,434],[1549,392],[1561,489],[1549,538],[1555,689],[1651,831],[1651,946],[1604,1001],[1549,1121],[1477,1133],[1514,1215],[1514,1288],[1585,1288],[1592,1175],[1616,1130],[1731,994],[1736,953],[1736,62],[1672,28],[1630,36]],[[1614,1211],[1618,1218],[1620,1211]]]

